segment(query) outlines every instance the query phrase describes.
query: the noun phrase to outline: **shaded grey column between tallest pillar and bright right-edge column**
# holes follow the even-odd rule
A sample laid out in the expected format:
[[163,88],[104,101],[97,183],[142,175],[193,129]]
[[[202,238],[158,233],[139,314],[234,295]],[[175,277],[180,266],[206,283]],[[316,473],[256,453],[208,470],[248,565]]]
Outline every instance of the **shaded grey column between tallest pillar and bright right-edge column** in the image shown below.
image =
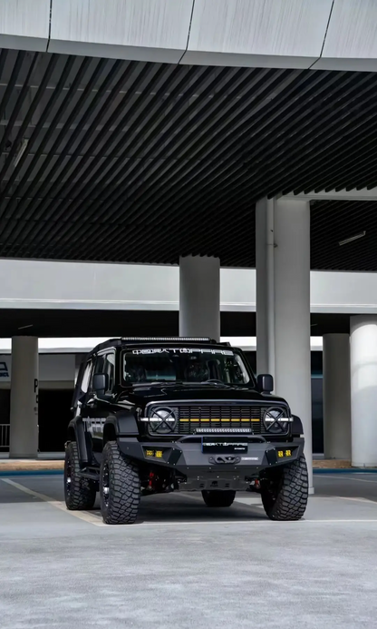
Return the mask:
[[351,460],[349,334],[324,334],[324,458]]

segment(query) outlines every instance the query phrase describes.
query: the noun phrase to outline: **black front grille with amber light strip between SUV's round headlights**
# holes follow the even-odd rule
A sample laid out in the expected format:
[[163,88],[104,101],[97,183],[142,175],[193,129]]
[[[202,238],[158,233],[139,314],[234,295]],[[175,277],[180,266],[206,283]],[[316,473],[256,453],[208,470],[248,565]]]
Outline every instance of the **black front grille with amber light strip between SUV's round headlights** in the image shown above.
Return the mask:
[[259,406],[171,404],[170,408],[178,418],[178,428],[174,432],[179,435],[192,435],[198,428],[205,428],[206,432],[210,428],[221,428],[221,432],[227,428],[249,428],[253,435],[262,433],[262,408]]

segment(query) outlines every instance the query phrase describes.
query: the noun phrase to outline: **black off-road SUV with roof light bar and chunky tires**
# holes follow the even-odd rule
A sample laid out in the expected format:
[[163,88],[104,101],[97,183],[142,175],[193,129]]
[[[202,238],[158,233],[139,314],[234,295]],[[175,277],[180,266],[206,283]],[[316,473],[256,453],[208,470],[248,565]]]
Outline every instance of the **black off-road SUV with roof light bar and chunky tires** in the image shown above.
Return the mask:
[[140,496],[201,491],[231,506],[262,497],[273,520],[304,515],[308,476],[301,420],[257,380],[239,349],[210,339],[112,339],[83,361],[65,447],[69,509],[132,524]]

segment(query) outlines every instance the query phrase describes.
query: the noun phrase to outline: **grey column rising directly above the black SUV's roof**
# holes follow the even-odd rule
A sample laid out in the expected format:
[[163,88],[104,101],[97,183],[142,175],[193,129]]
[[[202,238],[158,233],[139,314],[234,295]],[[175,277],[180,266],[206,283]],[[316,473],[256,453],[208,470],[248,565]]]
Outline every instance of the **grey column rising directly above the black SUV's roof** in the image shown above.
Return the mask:
[[220,260],[179,260],[179,336],[220,339]]

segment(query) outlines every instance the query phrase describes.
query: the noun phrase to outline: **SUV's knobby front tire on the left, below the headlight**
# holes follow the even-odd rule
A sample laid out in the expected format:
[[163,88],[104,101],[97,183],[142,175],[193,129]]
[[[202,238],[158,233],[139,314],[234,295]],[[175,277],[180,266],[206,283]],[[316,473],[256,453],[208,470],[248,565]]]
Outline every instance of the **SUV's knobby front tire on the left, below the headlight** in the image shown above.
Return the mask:
[[103,522],[110,525],[133,524],[139,512],[140,494],[138,467],[123,457],[116,441],[108,441],[103,448],[100,471]]

